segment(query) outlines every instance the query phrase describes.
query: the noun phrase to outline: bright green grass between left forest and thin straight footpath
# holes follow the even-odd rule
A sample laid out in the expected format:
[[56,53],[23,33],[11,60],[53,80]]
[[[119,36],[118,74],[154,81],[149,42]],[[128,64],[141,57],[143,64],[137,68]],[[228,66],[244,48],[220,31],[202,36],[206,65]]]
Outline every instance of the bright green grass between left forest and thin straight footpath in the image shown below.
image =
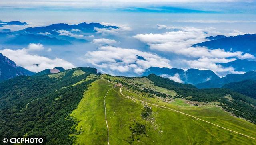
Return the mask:
[[78,121],[76,130],[80,133],[75,143],[80,145],[106,144],[106,122],[103,98],[112,88],[106,80],[96,80],[84,93],[78,108],[70,116]]

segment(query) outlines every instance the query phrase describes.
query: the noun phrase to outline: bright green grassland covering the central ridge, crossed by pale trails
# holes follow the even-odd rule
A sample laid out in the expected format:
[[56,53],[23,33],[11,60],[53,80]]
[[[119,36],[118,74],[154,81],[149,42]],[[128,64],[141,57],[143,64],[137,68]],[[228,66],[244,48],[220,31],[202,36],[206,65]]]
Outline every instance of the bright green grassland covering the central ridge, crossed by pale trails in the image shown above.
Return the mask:
[[[120,82],[120,79],[126,81],[126,78],[120,77],[112,77],[111,79],[117,82]],[[138,86],[145,85],[143,87],[150,87],[156,91],[170,93],[170,96],[175,93],[155,87],[145,78],[136,78],[136,80],[130,80],[129,83],[134,83]],[[112,87],[113,84],[107,80],[99,79],[93,82],[89,90],[84,93],[78,108],[70,115],[78,121],[76,125],[78,133],[72,135],[76,137],[75,144],[107,144],[103,98],[108,90],[106,111],[110,133],[109,142],[111,145],[256,144],[254,139],[232,133],[190,116],[129,99],[120,94],[120,87],[111,89]],[[256,138],[256,125],[231,116],[220,107],[211,104],[194,106],[180,98],[165,101],[159,97],[147,97],[144,92],[134,90],[125,85],[122,88],[122,93],[196,116]],[[145,106],[149,106],[152,110],[146,118],[142,117]]]

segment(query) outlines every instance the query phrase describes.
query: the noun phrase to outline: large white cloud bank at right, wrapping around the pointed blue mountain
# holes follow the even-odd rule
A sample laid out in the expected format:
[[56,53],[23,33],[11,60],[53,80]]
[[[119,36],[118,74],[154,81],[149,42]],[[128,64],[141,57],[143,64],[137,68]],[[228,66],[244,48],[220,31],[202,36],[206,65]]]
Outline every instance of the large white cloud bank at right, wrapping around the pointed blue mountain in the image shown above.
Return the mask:
[[[223,68],[215,63],[226,63],[236,59],[255,59],[254,55],[241,51],[228,52],[224,49],[208,49],[207,47],[191,47],[195,43],[206,41],[205,37],[220,35],[215,28],[198,29],[193,27],[168,27],[157,25],[158,29],[169,32],[160,34],[138,34],[134,37],[147,43],[152,50],[163,51],[182,59],[187,68],[210,69],[219,76],[228,73],[244,73],[234,71],[234,68]],[[230,31],[228,35],[242,34],[239,31]]]

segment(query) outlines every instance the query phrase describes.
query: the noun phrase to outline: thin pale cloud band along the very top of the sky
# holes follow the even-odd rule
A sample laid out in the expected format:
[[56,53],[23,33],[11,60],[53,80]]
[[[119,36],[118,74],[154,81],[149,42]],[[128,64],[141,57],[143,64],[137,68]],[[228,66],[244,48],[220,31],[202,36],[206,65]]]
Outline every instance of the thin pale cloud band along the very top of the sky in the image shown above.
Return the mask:
[[244,2],[250,3],[250,1],[244,0],[45,0],[44,2],[40,0],[1,0],[1,7],[14,7],[14,8],[31,8],[31,7],[71,7],[71,8],[99,8],[99,7],[111,7],[111,8],[122,8],[122,7],[140,7],[140,6],[159,6],[159,5],[176,5],[180,4],[211,4],[211,3],[234,3],[234,2]]

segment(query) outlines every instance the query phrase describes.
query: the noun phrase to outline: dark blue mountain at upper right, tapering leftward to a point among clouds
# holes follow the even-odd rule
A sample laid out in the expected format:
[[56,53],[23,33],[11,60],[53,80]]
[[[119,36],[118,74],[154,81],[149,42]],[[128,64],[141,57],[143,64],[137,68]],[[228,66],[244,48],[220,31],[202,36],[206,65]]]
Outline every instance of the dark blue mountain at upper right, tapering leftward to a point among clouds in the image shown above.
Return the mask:
[[225,49],[225,51],[242,51],[254,55],[256,53],[256,34],[244,34],[205,41],[193,45],[206,46],[209,49]]

